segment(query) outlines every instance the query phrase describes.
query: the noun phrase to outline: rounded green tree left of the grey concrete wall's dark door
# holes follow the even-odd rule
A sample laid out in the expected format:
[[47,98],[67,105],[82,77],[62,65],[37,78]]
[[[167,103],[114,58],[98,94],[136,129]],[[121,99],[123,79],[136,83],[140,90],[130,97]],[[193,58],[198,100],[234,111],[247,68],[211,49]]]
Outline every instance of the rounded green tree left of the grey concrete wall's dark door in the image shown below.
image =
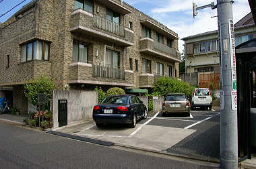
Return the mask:
[[51,81],[51,78],[46,76],[40,76],[32,80],[26,81],[24,84],[24,94],[28,98],[28,101],[38,107],[38,94],[43,93],[46,95],[46,104],[44,109],[50,108],[51,99],[53,98],[53,90],[55,89],[55,84]]

